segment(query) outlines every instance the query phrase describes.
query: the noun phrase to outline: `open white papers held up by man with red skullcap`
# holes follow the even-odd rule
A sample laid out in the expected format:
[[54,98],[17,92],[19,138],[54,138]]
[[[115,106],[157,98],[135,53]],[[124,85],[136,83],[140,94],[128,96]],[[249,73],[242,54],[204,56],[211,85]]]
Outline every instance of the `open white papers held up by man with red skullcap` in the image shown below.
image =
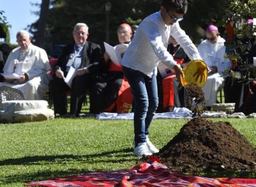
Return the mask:
[[110,59],[114,63],[120,65],[124,51],[127,49],[128,44],[118,44],[113,47],[113,46],[109,45],[108,43],[104,42],[104,46],[105,46],[105,50],[107,51],[107,53],[110,56]]

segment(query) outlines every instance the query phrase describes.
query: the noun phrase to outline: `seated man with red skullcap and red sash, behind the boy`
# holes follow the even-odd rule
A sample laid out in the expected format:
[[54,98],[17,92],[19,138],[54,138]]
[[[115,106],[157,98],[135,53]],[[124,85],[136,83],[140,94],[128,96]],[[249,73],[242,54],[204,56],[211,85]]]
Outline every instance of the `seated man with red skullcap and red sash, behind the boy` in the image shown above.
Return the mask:
[[[132,28],[129,24],[122,23],[117,29],[118,40],[120,44],[130,44],[132,37]],[[118,93],[123,85],[124,75],[122,71],[122,65],[114,63],[107,52],[104,54],[105,63],[108,65],[108,72],[105,78],[96,83],[92,89],[90,98],[90,112],[93,114],[99,114],[100,112],[118,112],[115,102],[118,98]],[[127,81],[126,81],[127,82]],[[128,83],[126,85],[129,85]],[[130,87],[130,85],[129,85]],[[130,90],[129,90],[130,91]],[[130,97],[131,96],[131,97]],[[132,95],[127,93],[126,99],[132,100]],[[131,103],[127,103],[127,109],[129,110]],[[122,111],[122,110],[121,110]],[[124,112],[121,112],[124,113]]]

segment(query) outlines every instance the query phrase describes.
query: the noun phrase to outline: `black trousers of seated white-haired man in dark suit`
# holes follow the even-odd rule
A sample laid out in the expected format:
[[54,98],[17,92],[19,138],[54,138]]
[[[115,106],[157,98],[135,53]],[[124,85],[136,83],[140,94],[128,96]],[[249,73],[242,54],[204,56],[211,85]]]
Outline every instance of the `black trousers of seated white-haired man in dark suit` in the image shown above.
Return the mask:
[[67,114],[67,91],[71,90],[70,115],[79,116],[85,93],[91,89],[95,80],[89,75],[74,77],[72,89],[61,78],[54,76],[49,82],[50,97],[54,103],[54,113]]

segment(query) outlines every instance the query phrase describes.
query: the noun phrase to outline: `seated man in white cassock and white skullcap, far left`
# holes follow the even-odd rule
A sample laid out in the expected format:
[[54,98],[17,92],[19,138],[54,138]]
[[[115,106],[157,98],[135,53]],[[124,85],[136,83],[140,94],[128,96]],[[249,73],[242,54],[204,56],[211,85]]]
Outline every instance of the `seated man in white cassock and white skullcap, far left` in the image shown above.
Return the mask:
[[20,47],[13,49],[4,66],[4,74],[16,73],[19,78],[5,78],[0,86],[22,91],[25,100],[43,100],[48,91],[50,64],[44,49],[34,46],[27,31],[17,33]]

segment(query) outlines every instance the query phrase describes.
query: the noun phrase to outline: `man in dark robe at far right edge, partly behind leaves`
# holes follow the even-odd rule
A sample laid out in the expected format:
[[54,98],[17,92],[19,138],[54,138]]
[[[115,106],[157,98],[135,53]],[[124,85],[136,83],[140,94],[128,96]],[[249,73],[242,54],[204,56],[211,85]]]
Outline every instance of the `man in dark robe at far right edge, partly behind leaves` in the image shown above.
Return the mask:
[[[249,83],[243,78],[247,77],[251,78],[251,80],[255,80],[256,76],[253,71],[255,67],[252,65],[253,57],[256,57],[256,40],[252,28],[252,19],[248,19],[246,23],[242,25],[242,29],[247,32],[241,38],[236,38],[241,41],[240,44],[242,45],[235,46],[236,50],[234,50],[234,52],[239,54],[240,58],[237,59],[233,57],[231,59],[231,71],[236,77],[227,76],[224,85],[225,102],[234,102],[234,112],[243,112],[245,115],[256,112],[255,81]],[[245,68],[245,64],[248,64],[248,68]],[[248,74],[249,72],[250,74]]]

